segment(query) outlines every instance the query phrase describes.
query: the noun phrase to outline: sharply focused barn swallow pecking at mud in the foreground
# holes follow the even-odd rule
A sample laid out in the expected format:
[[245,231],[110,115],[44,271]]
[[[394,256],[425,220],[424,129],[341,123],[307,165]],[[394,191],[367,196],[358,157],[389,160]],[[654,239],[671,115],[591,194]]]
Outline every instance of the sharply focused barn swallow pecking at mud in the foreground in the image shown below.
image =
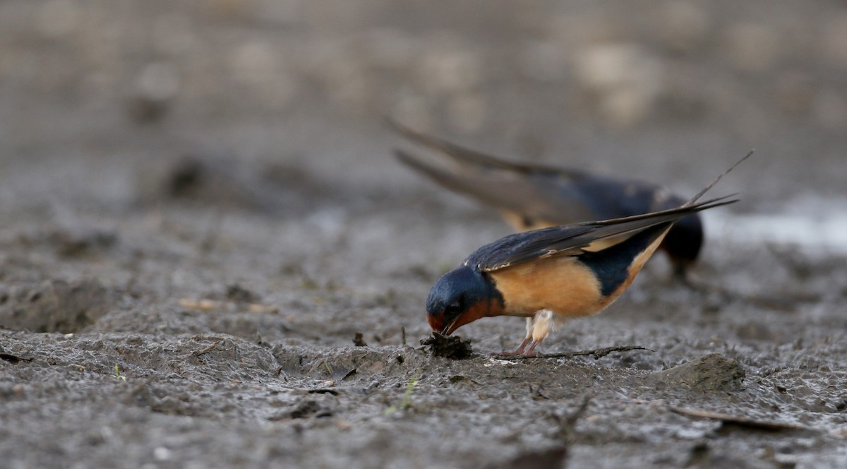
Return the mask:
[[[697,202],[723,175],[675,209],[541,228],[484,245],[435,282],[426,300],[429,326],[450,335],[483,317],[525,317],[526,338],[514,353],[532,354],[558,323],[594,315],[620,297],[675,223],[738,202],[728,200],[732,195]],[[616,243],[605,246],[610,239]]]

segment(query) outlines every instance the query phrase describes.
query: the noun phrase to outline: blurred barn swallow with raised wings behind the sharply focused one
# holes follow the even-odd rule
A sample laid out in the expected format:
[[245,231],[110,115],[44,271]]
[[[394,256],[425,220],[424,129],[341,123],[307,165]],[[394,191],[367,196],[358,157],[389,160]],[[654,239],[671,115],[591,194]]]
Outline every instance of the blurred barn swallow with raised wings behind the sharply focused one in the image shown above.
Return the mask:
[[[433,165],[396,149],[402,163],[441,186],[501,211],[517,231],[604,220],[673,209],[685,199],[645,181],[626,181],[582,170],[526,165],[495,158],[388,121],[412,142],[449,157],[454,165]],[[667,252],[674,274],[684,279],[700,254],[703,224],[691,213],[677,221],[659,248]]]

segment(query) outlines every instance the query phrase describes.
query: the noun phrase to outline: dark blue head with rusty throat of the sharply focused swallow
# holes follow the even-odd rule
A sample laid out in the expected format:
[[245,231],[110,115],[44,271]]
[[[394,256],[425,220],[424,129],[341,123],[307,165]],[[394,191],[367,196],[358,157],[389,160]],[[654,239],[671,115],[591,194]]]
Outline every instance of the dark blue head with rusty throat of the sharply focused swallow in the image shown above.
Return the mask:
[[501,315],[502,311],[503,297],[494,283],[467,265],[441,276],[426,299],[429,326],[444,335],[481,317]]

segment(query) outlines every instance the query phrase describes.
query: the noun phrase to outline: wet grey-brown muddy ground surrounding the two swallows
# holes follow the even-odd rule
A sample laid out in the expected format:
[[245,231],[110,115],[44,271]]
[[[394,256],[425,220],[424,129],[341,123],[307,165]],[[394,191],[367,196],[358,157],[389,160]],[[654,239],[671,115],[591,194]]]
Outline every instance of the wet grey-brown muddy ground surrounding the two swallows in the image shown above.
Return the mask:
[[[822,0],[6,0],[0,466],[847,467],[844,51]],[[429,287],[508,229],[386,114],[680,193],[756,155],[698,288],[542,351],[646,349],[448,360]]]

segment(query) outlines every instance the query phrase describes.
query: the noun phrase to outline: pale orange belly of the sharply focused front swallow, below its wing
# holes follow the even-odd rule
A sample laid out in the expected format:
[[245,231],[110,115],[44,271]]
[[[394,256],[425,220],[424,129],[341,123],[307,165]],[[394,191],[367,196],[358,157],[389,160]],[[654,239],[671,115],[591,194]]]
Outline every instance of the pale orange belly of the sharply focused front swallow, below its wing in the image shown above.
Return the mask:
[[570,256],[554,256],[489,272],[507,315],[551,310],[560,317],[593,315],[605,304],[594,272]]

